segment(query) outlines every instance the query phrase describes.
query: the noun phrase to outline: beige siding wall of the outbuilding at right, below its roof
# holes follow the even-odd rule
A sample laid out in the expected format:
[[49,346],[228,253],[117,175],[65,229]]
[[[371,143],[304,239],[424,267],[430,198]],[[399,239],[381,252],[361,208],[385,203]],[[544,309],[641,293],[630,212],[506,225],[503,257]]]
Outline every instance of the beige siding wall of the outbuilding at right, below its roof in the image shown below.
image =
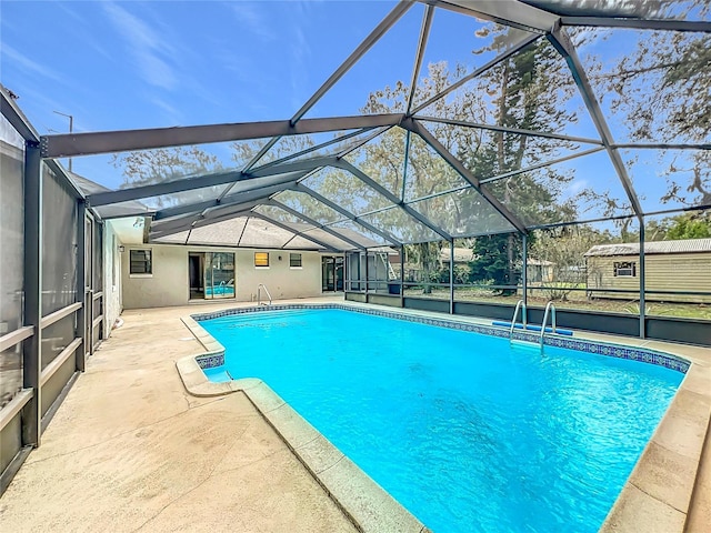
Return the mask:
[[[699,291],[711,292],[711,253],[663,253],[647,255],[645,298],[649,301],[663,302],[704,302],[711,303],[711,296],[654,294],[653,291]],[[635,262],[634,278],[614,276],[615,262]],[[589,289],[627,289],[639,291],[640,262],[638,255],[612,255],[588,258]],[[635,300],[633,294],[595,292],[595,298],[617,298]]]

